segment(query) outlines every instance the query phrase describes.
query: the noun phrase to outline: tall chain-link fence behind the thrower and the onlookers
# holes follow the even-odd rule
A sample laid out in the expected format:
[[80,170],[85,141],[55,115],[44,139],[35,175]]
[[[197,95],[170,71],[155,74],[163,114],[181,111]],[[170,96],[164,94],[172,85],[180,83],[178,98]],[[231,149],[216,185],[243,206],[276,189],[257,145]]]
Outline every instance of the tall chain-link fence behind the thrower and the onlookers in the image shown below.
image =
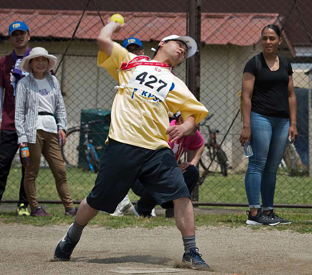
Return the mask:
[[[191,34],[199,45],[197,56],[175,69],[210,111],[200,128],[205,151],[199,165],[203,175],[195,190],[199,204],[247,205],[244,177],[248,159],[238,142],[242,72],[246,62],[261,52],[265,25],[277,24],[283,42],[280,54],[291,60],[297,96],[299,137],[287,147],[277,175],[275,204],[310,207],[312,197],[312,3],[308,0],[234,1],[125,1],[79,0],[15,1],[0,4],[0,56],[11,52],[10,23],[25,21],[30,46],[42,46],[57,56],[55,70],[67,109],[68,140],[63,148],[71,196],[80,201],[94,185],[97,159],[103,155],[110,125],[116,81],[97,66],[96,38],[111,15],[123,15],[126,25],[113,39],[129,37],[143,42],[153,56],[160,39]],[[215,141],[214,141],[215,138]],[[87,154],[94,145],[98,158]],[[217,154],[214,146],[218,148]],[[310,149],[309,149],[310,148]],[[41,201],[59,201],[54,177],[42,157],[36,180]],[[17,155],[8,177],[3,201],[18,198],[21,177]],[[130,198],[137,197],[130,193]]]

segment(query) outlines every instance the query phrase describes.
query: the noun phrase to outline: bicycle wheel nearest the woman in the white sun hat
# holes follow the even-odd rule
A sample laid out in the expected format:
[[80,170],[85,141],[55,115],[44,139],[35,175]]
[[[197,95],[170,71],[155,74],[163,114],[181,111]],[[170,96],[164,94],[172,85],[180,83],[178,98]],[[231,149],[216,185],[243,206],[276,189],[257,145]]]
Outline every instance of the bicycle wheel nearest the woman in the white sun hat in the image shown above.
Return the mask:
[[79,156],[79,137],[80,137],[80,127],[72,127],[68,129],[68,134],[66,137],[66,144],[61,146],[61,154],[65,163],[70,167],[78,166],[78,156]]

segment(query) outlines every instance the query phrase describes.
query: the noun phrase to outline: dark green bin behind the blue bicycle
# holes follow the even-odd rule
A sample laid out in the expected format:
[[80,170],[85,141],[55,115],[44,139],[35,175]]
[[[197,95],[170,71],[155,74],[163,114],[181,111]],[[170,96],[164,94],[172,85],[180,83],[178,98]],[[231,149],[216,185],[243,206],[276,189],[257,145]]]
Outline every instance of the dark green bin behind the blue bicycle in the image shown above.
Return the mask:
[[[88,135],[89,140],[97,148],[102,146],[102,149],[98,149],[98,157],[102,158],[105,150],[105,140],[109,132],[109,126],[111,124],[111,110],[103,109],[88,109],[81,110],[80,116],[80,127],[88,124],[90,133]],[[88,162],[83,152],[83,142],[85,137],[80,133],[79,137],[79,156],[78,156],[78,167],[83,169],[89,169]]]

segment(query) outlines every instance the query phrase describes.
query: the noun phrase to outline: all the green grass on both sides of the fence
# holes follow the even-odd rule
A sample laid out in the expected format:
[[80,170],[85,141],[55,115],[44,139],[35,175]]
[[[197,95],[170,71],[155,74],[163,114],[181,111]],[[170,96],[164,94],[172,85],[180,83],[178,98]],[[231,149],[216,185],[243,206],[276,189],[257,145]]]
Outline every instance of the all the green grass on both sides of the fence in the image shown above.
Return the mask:
[[[20,188],[20,167],[12,167],[3,199],[17,199]],[[67,178],[74,200],[81,200],[88,195],[94,185],[96,174],[78,168],[67,169]],[[275,203],[311,204],[312,185],[309,177],[289,177],[279,174],[277,176]],[[59,200],[55,188],[54,178],[50,169],[41,168],[36,182],[37,195],[40,200]],[[137,200],[131,192],[130,198]],[[246,203],[243,174],[230,174],[222,177],[220,174],[210,174],[199,189],[200,202],[241,202]],[[36,226],[67,223],[73,221],[72,217],[64,216],[64,208],[60,204],[44,204],[52,214],[51,217],[19,217],[15,211],[0,211],[0,221],[4,223],[32,224]],[[212,209],[213,207],[210,207]],[[221,207],[215,207],[221,208]],[[266,227],[267,230],[292,230],[300,233],[312,233],[311,209],[278,209],[278,214],[291,219],[291,225]],[[197,214],[196,226],[246,226],[246,214]],[[137,218],[133,215],[113,217],[106,213],[99,213],[90,224],[105,226],[106,228],[175,226],[174,219],[166,219],[163,214],[156,218]],[[253,227],[259,230],[263,227]]]

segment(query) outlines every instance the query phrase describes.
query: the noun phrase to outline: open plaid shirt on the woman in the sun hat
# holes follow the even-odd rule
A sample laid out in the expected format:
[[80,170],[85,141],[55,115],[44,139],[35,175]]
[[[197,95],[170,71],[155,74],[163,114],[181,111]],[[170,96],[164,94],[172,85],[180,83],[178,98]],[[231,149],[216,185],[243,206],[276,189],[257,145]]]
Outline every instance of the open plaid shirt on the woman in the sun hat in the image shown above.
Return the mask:
[[[55,118],[58,129],[66,128],[66,109],[60,92],[59,81],[51,72],[45,72],[44,77],[48,79],[55,96]],[[15,99],[15,128],[18,134],[18,144],[23,142],[36,143],[37,118],[39,105],[39,87],[30,73],[20,79],[17,86]]]

